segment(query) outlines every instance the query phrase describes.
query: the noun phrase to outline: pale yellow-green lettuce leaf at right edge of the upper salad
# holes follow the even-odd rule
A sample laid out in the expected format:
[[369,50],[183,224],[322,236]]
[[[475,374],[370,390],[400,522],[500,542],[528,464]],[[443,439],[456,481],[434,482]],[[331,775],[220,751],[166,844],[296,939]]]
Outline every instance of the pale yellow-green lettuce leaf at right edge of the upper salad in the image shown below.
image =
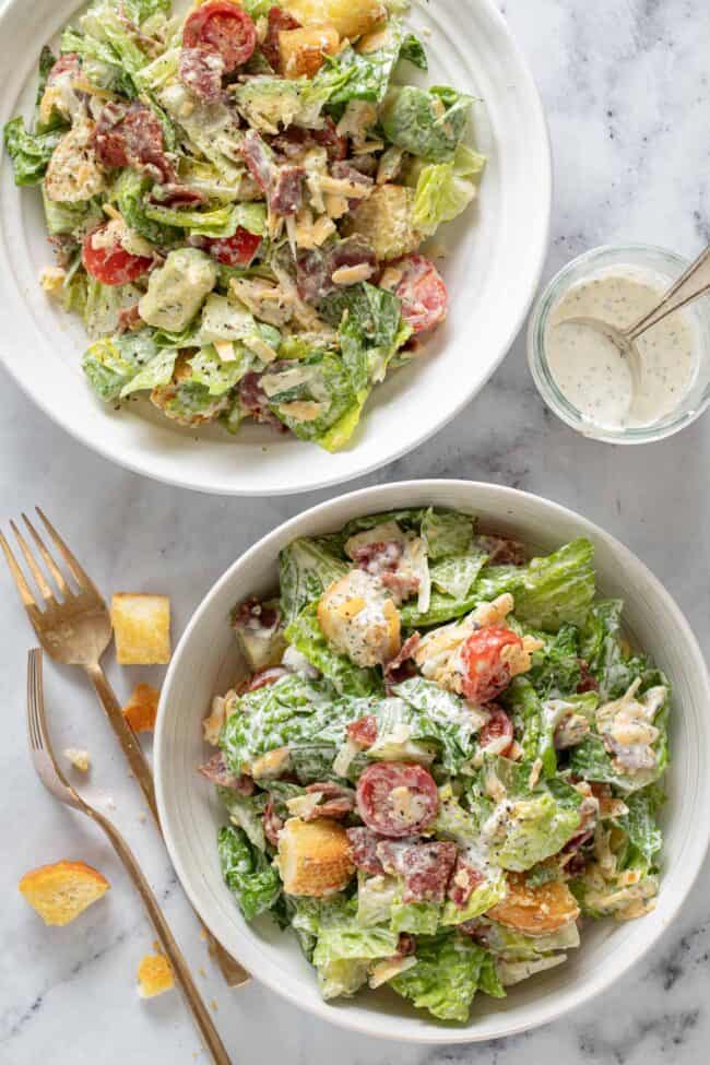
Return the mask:
[[458,217],[476,194],[474,178],[483,170],[485,155],[459,144],[450,163],[428,163],[418,174],[412,223],[430,236],[443,222]]

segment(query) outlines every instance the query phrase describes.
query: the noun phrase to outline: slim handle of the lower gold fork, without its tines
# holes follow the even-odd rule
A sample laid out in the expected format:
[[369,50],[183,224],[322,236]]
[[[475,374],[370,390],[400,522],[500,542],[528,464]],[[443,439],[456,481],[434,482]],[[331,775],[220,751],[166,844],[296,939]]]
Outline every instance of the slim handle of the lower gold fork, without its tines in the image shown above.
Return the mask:
[[200,1030],[200,1034],[202,1036],[202,1039],[204,1040],[212,1055],[212,1060],[214,1061],[215,1065],[232,1065],[232,1060],[224,1043],[220,1039],[220,1033],[214,1027],[210,1011],[204,1005],[202,996],[200,995],[200,992],[192,980],[192,975],[182,956],[182,951],[175,942],[175,937],[173,936],[173,933],[170,932],[170,928],[163,916],[163,912],[157,904],[155,896],[153,895],[147,880],[143,876],[140,865],[133,857],[130,848],[118,829],[102,814],[92,809],[90,816],[104,829],[109,840],[114,844],[114,849],[120,857],[126,872],[138,888],[140,896],[143,899],[143,904],[147,910],[151,923],[153,924],[157,937],[161,940],[161,946],[163,947],[165,956],[173,967],[175,979],[177,980],[177,983],[185,995],[185,999],[194,1018],[194,1022]]

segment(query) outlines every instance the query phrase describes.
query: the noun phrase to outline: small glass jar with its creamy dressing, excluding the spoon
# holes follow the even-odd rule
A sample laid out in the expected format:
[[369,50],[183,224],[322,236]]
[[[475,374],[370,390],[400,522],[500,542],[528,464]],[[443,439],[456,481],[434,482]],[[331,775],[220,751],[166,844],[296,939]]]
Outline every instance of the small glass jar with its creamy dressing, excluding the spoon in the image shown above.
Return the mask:
[[594,248],[553,277],[528,329],[528,358],[547,405],[573,429],[611,443],[677,433],[710,403],[710,296],[674,311],[637,341],[640,376],[611,340],[572,318],[624,329],[687,269],[646,245]]

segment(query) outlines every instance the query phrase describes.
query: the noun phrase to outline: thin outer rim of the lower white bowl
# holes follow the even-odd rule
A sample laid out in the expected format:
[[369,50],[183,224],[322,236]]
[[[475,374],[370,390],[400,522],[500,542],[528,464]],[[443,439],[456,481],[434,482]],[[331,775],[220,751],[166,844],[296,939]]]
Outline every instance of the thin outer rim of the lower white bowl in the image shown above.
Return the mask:
[[[615,556],[623,561],[626,567],[630,568],[631,571],[635,571],[637,577],[641,577],[646,582],[652,585],[655,593],[663,600],[667,608],[668,622],[677,627],[682,635],[683,644],[695,659],[698,677],[697,683],[700,686],[705,686],[706,693],[710,699],[710,676],[708,674],[707,663],[689,623],[671,593],[646,566],[646,564],[641,561],[641,559],[639,559],[628,547],[626,547],[625,544],[623,544],[611,533],[605,532],[601,526],[596,525],[588,518],[584,518],[570,508],[564,507],[563,505],[547,499],[544,496],[537,496],[534,493],[522,492],[518,488],[511,488],[506,485],[494,485],[486,482],[465,481],[462,478],[422,478],[398,481],[390,484],[359,488],[355,492],[345,492],[323,502],[317,504],[313,507],[309,507],[295,517],[279,524],[275,529],[267,533],[265,536],[262,536],[255,544],[248,547],[247,551],[244,552],[244,554],[240,555],[240,557],[228,567],[222,577],[214,582],[212,588],[206,592],[200,604],[197,606],[178,641],[161,693],[154,742],[155,789],[161,826],[163,828],[165,844],[167,847],[170,861],[176,869],[182,889],[190,899],[196,911],[200,913],[202,920],[208,927],[211,928],[213,934],[215,934],[217,939],[220,936],[217,935],[215,927],[213,927],[210,922],[210,914],[201,912],[201,900],[198,898],[197,892],[192,891],[190,876],[188,875],[187,868],[185,867],[180,857],[177,842],[173,838],[164,791],[164,778],[166,771],[164,737],[168,717],[167,706],[170,701],[169,691],[171,684],[174,683],[174,676],[178,671],[184,648],[192,639],[194,631],[202,624],[203,617],[210,611],[213,600],[218,596],[218,594],[226,587],[229,585],[235,575],[244,569],[248,569],[255,556],[269,552],[270,549],[274,549],[274,545],[283,542],[285,539],[292,539],[293,536],[297,535],[299,528],[303,524],[311,523],[312,520],[317,518],[324,519],[324,523],[327,523],[327,519],[331,511],[336,510],[338,507],[344,502],[354,506],[359,501],[362,502],[363,513],[377,512],[380,509],[388,509],[387,499],[392,493],[409,492],[409,494],[412,496],[424,496],[426,498],[427,496],[435,494],[437,490],[451,487],[454,487],[458,490],[463,490],[471,496],[474,496],[480,489],[485,489],[486,493],[492,493],[494,497],[498,496],[501,504],[501,516],[505,516],[505,505],[511,499],[511,497],[521,500],[534,500],[534,505],[540,506],[542,504],[544,508],[548,509],[559,518],[575,522],[580,528],[580,535],[587,534],[592,537],[599,537],[600,541],[604,542],[605,545],[614,552]],[[705,755],[710,762],[710,727],[708,727],[708,731],[706,732],[703,746]],[[415,1032],[406,1036],[403,1036],[401,1032],[372,1031],[372,1028],[369,1027],[366,1021],[362,1021],[357,1016],[355,1016],[354,1013],[348,1013],[347,1009],[334,1009],[332,1005],[329,1005],[326,1002],[304,1003],[297,993],[292,992],[288,986],[280,984],[277,980],[272,980],[269,977],[262,977],[261,974],[257,975],[257,973],[251,972],[251,970],[250,972],[253,979],[258,980],[262,984],[265,984],[272,991],[276,992],[282,997],[287,998],[299,1008],[306,1009],[308,1013],[312,1013],[330,1023],[334,1023],[352,1031],[358,1031],[362,1034],[372,1036],[374,1038],[400,1041],[404,1039],[407,1042],[422,1044],[437,1042],[473,1043],[484,1040],[499,1039],[504,1038],[505,1036],[517,1034],[522,1031],[531,1031],[539,1028],[541,1025],[545,1025],[558,1019],[559,1017],[569,1013],[570,1009],[573,1009],[601,994],[601,992],[605,991],[612,983],[615,983],[620,977],[623,977],[624,973],[636,965],[651,949],[651,947],[659,942],[662,934],[667,930],[668,925],[677,918],[678,912],[682,906],[685,903],[685,900],[696,883],[696,879],[707,859],[710,850],[710,821],[707,823],[703,833],[705,839],[700,839],[698,842],[696,842],[693,852],[693,860],[686,866],[684,866],[682,871],[682,883],[679,885],[676,884],[676,889],[672,898],[665,903],[667,908],[666,921],[663,925],[659,925],[659,927],[653,931],[653,934],[648,935],[646,939],[632,944],[624,955],[622,962],[614,968],[613,971],[602,975],[589,977],[585,981],[583,994],[579,992],[575,993],[575,989],[571,987],[570,991],[564,993],[563,1001],[557,1001],[554,1005],[548,1005],[546,1004],[545,999],[541,999],[539,1014],[532,1020],[528,1019],[518,1022],[509,1022],[504,1026],[505,1030],[501,1030],[495,1036],[492,1036],[489,1032],[480,1034],[476,1032],[475,1027],[459,1031],[450,1030],[443,1026],[440,1030],[438,1030],[436,1027],[434,1027],[434,1025],[430,1031]],[[248,965],[247,968],[249,968]]]

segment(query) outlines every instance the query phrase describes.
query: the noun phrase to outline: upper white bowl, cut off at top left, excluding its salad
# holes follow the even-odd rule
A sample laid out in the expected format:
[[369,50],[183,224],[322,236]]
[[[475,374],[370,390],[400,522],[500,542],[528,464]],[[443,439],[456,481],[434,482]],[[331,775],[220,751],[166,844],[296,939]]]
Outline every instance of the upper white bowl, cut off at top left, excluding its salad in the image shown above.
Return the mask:
[[[0,15],[0,121],[32,113],[42,45],[76,13],[76,0],[10,0]],[[176,7],[178,4],[176,3]],[[493,0],[414,0],[407,23],[424,29],[428,84],[481,98],[473,134],[488,165],[477,206],[437,245],[450,313],[422,358],[392,374],[368,403],[352,446],[331,455],[263,426],[230,437],[199,434],[147,401],[116,412],[81,370],[86,338],[40,291],[51,261],[37,189],[16,189],[0,168],[0,358],[35,402],[83,443],[139,473],[202,492],[274,495],[359,476],[416,447],[454,416],[500,363],[537,287],[549,224],[551,161],[535,85]],[[417,75],[418,78],[419,75]],[[455,384],[452,384],[455,382]],[[196,439],[197,437],[197,439]]]

